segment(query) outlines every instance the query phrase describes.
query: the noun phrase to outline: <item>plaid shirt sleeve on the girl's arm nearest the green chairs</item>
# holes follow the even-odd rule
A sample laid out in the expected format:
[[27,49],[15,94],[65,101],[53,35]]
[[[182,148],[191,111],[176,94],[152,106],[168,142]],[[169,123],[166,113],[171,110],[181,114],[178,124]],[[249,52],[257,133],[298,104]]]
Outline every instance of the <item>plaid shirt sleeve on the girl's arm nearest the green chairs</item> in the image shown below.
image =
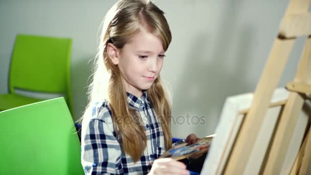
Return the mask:
[[82,129],[81,163],[85,174],[123,174],[121,147],[109,124],[93,118]]

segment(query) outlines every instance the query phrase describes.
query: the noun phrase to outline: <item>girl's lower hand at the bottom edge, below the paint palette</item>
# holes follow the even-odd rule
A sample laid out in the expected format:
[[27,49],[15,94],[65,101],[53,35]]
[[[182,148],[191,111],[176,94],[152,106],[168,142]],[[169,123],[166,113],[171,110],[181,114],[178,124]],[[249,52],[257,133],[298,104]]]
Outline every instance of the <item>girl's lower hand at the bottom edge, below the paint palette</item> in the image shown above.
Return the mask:
[[186,169],[186,165],[182,162],[175,161],[172,158],[160,158],[153,162],[150,172],[151,174],[190,174]]

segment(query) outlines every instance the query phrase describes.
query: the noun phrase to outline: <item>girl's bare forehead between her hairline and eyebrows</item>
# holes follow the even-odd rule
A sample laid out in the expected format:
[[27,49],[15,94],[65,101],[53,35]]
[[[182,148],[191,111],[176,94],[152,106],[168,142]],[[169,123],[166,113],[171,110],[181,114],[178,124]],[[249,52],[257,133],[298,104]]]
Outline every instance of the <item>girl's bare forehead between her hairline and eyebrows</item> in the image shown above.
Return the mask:
[[148,32],[140,32],[135,35],[124,47],[132,51],[146,51],[151,53],[164,52],[162,41],[156,35]]

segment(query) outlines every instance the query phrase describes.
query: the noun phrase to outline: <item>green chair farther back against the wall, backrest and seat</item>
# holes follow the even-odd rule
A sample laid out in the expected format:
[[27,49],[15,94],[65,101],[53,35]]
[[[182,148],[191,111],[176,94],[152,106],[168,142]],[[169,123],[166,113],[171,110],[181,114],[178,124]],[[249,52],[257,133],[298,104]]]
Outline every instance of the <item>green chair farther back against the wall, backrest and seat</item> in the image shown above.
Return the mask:
[[11,58],[9,94],[0,95],[0,111],[45,99],[17,94],[27,91],[64,96],[73,115],[71,45],[70,38],[18,34]]

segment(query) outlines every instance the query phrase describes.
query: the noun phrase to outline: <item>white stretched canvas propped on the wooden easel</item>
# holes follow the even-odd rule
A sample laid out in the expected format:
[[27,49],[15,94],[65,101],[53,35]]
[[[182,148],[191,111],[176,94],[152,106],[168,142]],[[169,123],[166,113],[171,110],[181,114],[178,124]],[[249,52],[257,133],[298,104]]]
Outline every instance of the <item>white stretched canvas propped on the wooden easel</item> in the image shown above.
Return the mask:
[[[270,102],[276,103],[284,101],[288,98],[288,94],[288,91],[286,91],[284,88],[277,89],[274,91]],[[252,101],[253,93],[232,96],[226,99],[223,110],[220,114],[218,125],[215,130],[216,136],[213,139],[209,154],[206,157],[201,174],[220,174],[223,171],[232,144],[236,138],[236,134],[238,132],[242,119],[245,116],[243,114],[240,114],[240,112],[250,108]],[[278,107],[273,107],[268,110],[267,115],[265,116],[267,120],[263,121],[263,125],[261,127],[261,131],[264,132],[262,134],[260,132],[260,134],[258,135],[259,137],[256,140],[257,144],[260,144],[261,147],[257,147],[258,152],[252,152],[252,155],[254,155],[254,157],[252,157],[252,159],[250,159],[250,161],[248,162],[249,167],[252,167],[255,164],[258,165],[258,162],[262,162],[263,156],[260,155],[260,152],[264,151],[269,144],[268,141],[262,142],[262,140],[270,140],[266,137],[271,137],[273,132],[273,130],[269,130],[266,128],[274,125],[277,119],[277,116],[270,117],[269,114],[275,115],[278,110],[280,110],[280,108]],[[255,146],[257,145],[256,142]],[[255,166],[252,168],[255,168],[256,171],[259,171],[260,167]],[[252,174],[254,173],[254,171],[250,171],[250,169],[248,168],[246,170],[246,172],[252,172]]]

